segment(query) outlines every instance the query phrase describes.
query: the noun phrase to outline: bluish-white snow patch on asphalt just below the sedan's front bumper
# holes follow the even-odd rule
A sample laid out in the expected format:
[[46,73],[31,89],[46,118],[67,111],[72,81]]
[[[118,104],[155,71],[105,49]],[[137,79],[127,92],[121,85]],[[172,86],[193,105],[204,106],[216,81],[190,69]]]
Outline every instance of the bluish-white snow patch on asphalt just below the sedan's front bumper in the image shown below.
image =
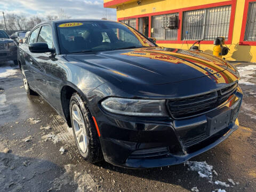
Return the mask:
[[197,171],[201,178],[212,178],[212,165],[208,165],[206,162],[187,161],[189,171]]

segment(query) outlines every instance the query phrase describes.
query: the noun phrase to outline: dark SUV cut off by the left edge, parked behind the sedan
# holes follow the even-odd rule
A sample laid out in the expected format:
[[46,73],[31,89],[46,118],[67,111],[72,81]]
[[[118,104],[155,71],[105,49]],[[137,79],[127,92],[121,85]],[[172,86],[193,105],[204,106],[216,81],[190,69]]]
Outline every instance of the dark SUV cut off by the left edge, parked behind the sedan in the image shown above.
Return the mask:
[[0,30],[0,64],[4,61],[13,61],[18,65],[17,46],[4,30]]

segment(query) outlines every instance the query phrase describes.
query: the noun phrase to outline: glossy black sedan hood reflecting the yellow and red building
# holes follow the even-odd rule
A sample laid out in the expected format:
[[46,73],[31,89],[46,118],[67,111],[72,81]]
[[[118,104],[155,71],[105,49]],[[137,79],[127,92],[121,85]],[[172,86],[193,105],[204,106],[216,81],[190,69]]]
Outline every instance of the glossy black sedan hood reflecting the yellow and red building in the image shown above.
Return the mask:
[[102,68],[119,81],[144,84],[180,82],[227,69],[227,62],[213,55],[164,47],[69,54],[68,57]]

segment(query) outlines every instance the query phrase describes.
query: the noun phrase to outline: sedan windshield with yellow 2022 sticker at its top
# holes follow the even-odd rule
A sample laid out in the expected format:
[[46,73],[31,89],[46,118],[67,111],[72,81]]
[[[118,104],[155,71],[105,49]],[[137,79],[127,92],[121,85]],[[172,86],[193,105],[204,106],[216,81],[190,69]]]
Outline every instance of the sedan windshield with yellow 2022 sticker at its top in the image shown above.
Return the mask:
[[117,22],[58,23],[57,31],[62,54],[156,46],[138,31]]

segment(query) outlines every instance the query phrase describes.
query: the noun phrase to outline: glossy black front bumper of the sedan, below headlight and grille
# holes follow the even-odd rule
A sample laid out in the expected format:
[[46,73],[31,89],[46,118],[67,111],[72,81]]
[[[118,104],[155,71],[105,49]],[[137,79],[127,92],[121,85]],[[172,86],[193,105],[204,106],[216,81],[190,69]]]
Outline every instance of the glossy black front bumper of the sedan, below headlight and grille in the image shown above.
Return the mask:
[[[238,128],[241,103],[238,89],[225,105],[187,119],[126,117],[101,110],[97,121],[105,161],[135,169],[186,162],[217,146]],[[220,113],[230,114],[227,126],[209,132],[209,122]]]

